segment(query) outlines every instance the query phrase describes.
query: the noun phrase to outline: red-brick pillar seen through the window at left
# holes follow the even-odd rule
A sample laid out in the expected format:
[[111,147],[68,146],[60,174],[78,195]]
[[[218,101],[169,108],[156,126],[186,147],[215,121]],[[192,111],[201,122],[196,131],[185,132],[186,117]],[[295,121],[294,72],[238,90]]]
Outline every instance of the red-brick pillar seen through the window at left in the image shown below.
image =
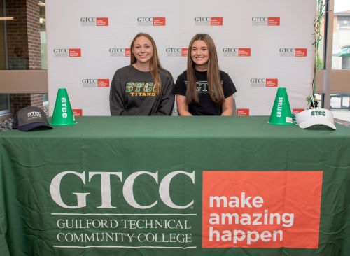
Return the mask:
[[[37,0],[6,0],[9,69],[41,69],[40,9]],[[43,94],[11,94],[11,113],[25,106],[43,108]]]

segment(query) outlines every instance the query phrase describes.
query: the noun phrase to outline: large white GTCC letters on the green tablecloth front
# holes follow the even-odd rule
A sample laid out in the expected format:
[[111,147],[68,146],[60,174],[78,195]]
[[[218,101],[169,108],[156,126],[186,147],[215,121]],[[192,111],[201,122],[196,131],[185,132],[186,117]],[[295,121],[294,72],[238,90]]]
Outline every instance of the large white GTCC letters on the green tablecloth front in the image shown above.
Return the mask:
[[[149,209],[153,208],[158,204],[158,199],[154,199],[152,204],[144,205],[137,201],[134,197],[134,182],[135,180],[147,178],[149,183],[149,178],[151,177],[152,180],[154,180],[153,185],[158,186],[158,195],[160,197],[160,200],[169,208],[173,209],[186,209],[190,206],[193,206],[194,200],[192,199],[186,199],[185,203],[179,205],[179,203],[174,203],[172,201],[172,194],[170,190],[170,184],[172,183],[173,178],[176,178],[177,176],[181,176],[182,178],[188,178],[192,181],[193,184],[195,184],[195,171],[192,173],[188,173],[186,171],[172,171],[171,173],[168,173],[162,180],[159,179],[158,171],[155,173],[149,172],[149,171],[137,171],[135,173],[132,173],[130,176],[128,176],[124,184],[121,185],[120,183],[123,183],[123,172],[120,171],[113,171],[113,172],[104,172],[104,171],[88,171],[85,173],[78,173],[76,171],[63,171],[62,173],[58,173],[51,181],[50,184],[50,194],[52,197],[52,200],[55,201],[56,204],[61,206],[62,208],[66,209],[77,209],[77,208],[85,208],[87,206],[87,196],[91,194],[88,191],[88,186],[86,183],[90,183],[91,180],[94,178],[94,176],[98,176],[101,180],[101,191],[99,192],[99,195],[101,196],[101,206],[97,206],[97,208],[117,208],[117,206],[113,206],[111,202],[111,197],[113,194],[111,194],[111,186],[120,186],[121,193],[123,194],[123,198],[129,204],[130,206],[138,209]],[[111,177],[118,178],[120,180],[120,183],[111,183]],[[62,198],[61,194],[61,185],[62,183],[66,182],[67,178],[74,178],[78,181],[77,183],[77,190],[80,190],[83,188],[83,192],[73,192],[71,193],[71,197],[73,198],[73,201],[75,201],[74,205],[68,205],[65,201],[72,201],[72,198],[64,200]],[[158,185],[159,184],[159,185]],[[138,190],[140,188],[138,187]],[[145,190],[149,190],[148,187],[145,188]],[[95,189],[93,189],[92,193],[96,192]],[[90,203],[92,204],[92,203]],[[124,204],[124,202],[123,202]],[[89,205],[89,207],[92,207]]]

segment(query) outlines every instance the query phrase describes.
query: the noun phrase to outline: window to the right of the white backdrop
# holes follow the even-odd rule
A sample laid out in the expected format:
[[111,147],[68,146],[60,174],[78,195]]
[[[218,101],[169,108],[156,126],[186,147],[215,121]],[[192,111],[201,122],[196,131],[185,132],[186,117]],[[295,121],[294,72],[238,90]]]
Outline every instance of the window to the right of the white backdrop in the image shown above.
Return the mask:
[[[319,1],[322,0],[316,0]],[[323,4],[316,92],[322,108],[330,109],[335,118],[350,122],[350,1],[323,0]]]

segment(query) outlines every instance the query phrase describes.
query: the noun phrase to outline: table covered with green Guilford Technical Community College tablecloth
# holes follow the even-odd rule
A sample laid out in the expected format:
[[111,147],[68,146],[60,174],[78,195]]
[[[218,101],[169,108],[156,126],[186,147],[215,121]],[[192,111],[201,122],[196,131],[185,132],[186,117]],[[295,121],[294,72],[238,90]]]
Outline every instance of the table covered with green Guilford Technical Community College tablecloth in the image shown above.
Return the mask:
[[350,255],[348,127],[77,121],[0,134],[0,255]]

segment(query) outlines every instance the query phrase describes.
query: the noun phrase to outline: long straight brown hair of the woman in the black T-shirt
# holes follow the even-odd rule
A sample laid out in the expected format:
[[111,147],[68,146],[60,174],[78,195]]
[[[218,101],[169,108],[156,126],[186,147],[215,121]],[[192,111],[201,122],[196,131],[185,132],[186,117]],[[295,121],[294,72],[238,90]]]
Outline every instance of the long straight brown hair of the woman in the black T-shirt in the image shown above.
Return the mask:
[[223,104],[225,96],[223,94],[223,85],[221,83],[221,76],[218,66],[218,54],[216,53],[216,47],[213,39],[209,34],[197,34],[190,41],[188,46],[187,57],[187,90],[186,90],[186,103],[200,102],[200,97],[197,92],[196,77],[195,77],[195,62],[191,57],[191,51],[193,43],[197,40],[207,43],[209,51],[207,80],[211,99],[217,104]]

